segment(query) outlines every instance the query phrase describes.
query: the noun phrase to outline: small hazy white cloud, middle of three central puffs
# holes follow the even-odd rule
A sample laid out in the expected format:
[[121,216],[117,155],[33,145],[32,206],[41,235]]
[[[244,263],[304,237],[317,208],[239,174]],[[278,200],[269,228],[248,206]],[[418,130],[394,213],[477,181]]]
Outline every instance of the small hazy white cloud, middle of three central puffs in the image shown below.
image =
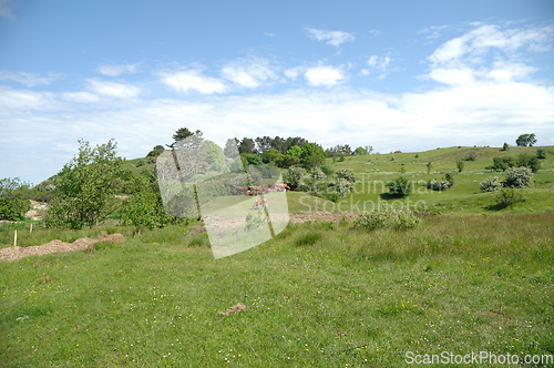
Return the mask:
[[277,78],[269,62],[261,58],[237,59],[222,68],[222,76],[248,89]]

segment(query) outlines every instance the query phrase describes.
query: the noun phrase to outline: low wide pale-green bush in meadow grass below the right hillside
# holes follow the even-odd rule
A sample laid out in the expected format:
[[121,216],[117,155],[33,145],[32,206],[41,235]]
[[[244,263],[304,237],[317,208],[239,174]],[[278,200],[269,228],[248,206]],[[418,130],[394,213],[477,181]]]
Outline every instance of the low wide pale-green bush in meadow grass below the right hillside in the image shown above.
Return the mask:
[[353,221],[355,228],[373,231],[377,228],[413,228],[421,219],[410,211],[372,211],[362,212]]

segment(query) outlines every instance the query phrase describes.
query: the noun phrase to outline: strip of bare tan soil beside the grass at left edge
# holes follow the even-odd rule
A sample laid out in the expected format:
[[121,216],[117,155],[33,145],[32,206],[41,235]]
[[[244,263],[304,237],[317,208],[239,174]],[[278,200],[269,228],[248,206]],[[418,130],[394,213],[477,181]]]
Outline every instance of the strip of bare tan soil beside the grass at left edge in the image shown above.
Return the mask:
[[52,241],[47,244],[28,246],[28,247],[10,247],[0,249],[0,260],[13,262],[21,259],[23,257],[43,255],[50,253],[62,253],[62,252],[73,252],[73,251],[84,251],[91,249],[92,246],[98,242],[112,242],[121,243],[123,241],[123,235],[115,234],[102,234],[99,238],[94,239],[91,237],[82,237],[73,243],[64,243],[62,241]]

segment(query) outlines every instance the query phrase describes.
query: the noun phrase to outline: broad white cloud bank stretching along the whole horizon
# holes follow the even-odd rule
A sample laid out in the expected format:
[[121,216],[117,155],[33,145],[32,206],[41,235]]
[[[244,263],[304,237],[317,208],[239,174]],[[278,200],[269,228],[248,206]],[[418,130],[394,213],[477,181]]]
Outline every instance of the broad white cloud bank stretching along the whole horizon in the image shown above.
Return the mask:
[[[318,67],[322,68],[330,67]],[[497,65],[497,70],[514,69]],[[79,93],[79,92],[76,92]],[[69,101],[70,94],[60,99]],[[75,96],[75,95],[73,95]],[[85,94],[81,101],[86,99]],[[91,144],[115,137],[119,153],[144,156],[171,142],[183,122],[194,122],[206,139],[224,144],[233,136],[304,136],[325,147],[371,144],[380,152],[423,151],[437,146],[513,142],[534,132],[540,142],[554,136],[554,88],[486,79],[401,95],[372,91],[297,89],[274,94],[209,95],[98,102],[102,109],[57,100],[52,93],[0,88],[0,155],[10,157],[4,176],[38,183],[57,173],[84,137]],[[96,106],[96,105],[95,105]],[[91,129],[94,126],[94,129]],[[33,134],[29,135],[28,132]],[[21,146],[24,161],[11,160]]]

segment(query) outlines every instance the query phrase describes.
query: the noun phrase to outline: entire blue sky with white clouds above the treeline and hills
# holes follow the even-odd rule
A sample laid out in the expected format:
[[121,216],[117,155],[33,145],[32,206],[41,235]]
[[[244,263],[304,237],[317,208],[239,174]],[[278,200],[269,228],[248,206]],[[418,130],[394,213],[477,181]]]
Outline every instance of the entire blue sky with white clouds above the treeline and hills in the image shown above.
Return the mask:
[[0,0],[0,177],[182,126],[376,151],[554,144],[554,2]]

